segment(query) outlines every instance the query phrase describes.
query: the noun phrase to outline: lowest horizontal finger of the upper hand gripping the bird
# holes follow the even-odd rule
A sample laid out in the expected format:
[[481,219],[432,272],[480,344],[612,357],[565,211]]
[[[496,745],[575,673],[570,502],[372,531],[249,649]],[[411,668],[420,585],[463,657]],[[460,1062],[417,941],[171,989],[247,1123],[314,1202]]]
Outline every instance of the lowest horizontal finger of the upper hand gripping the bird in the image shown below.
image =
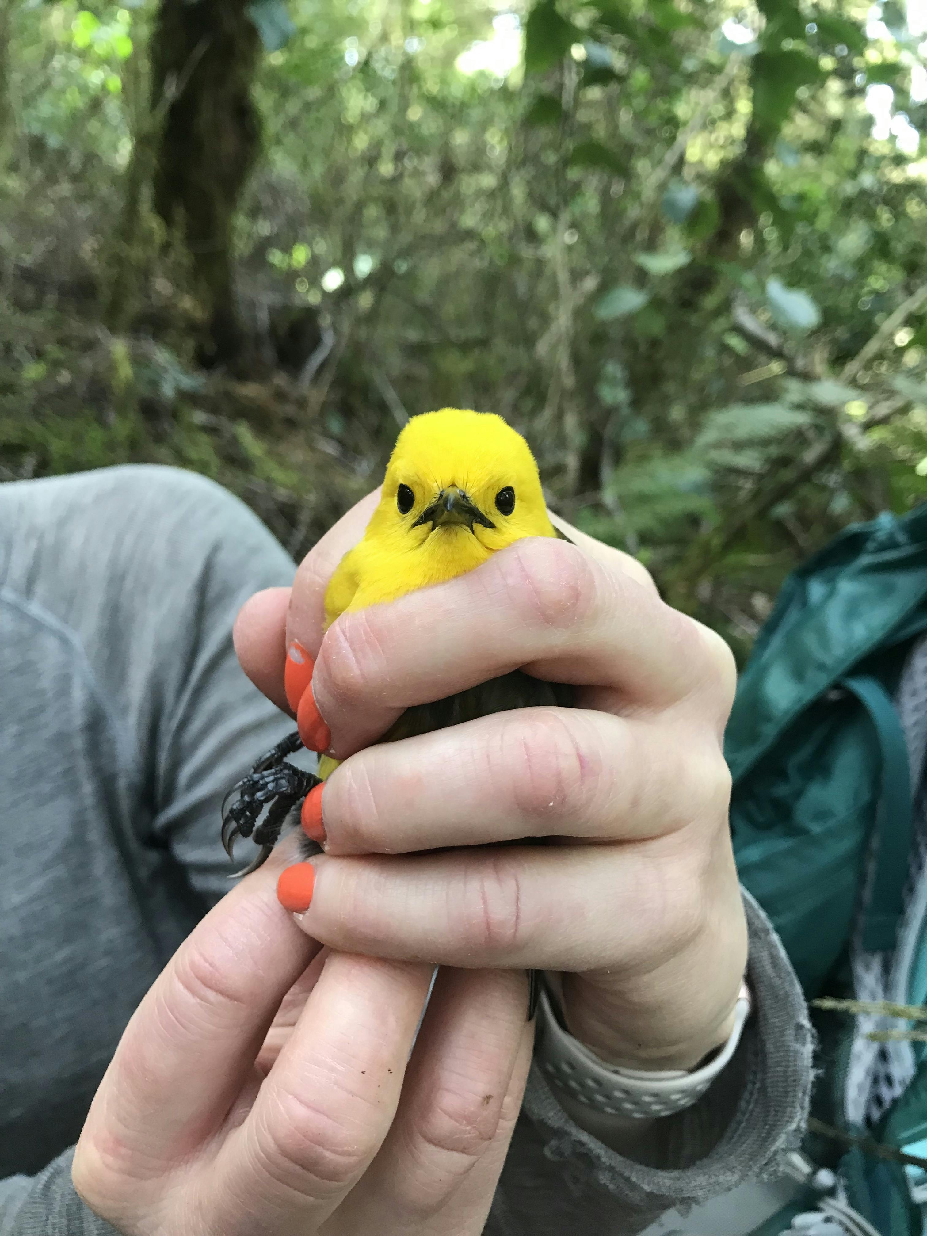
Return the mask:
[[712,896],[721,895],[719,871],[727,878],[726,833],[718,822],[701,822],[614,845],[321,855],[297,921],[345,952],[627,974],[659,965],[702,931]]

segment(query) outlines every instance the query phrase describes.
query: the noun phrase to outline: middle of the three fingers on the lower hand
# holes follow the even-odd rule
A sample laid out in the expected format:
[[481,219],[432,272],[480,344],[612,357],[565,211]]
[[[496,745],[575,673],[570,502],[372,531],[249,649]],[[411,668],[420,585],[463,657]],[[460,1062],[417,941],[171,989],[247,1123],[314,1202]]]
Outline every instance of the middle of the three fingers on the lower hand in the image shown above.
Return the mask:
[[[433,967],[332,953],[210,1172],[222,1232],[315,1231],[393,1121]],[[261,1226],[255,1216],[265,1216]]]

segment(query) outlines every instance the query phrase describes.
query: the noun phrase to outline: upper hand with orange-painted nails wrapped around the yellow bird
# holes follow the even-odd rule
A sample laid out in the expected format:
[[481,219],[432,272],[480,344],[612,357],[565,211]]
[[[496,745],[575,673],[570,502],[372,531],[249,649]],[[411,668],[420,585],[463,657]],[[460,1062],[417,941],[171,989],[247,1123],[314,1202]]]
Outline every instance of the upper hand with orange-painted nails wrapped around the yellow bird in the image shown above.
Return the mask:
[[[282,707],[286,646],[315,660],[329,754],[345,761],[321,795],[300,927],[351,953],[555,971],[569,1028],[602,1058],[693,1067],[728,1037],[747,962],[727,645],[633,559],[569,528],[575,545],[519,541],[323,638],[328,578],[375,504],[236,628],[246,672]],[[576,684],[578,707],[371,745],[403,708],[515,667]],[[555,844],[486,848],[523,837]]]

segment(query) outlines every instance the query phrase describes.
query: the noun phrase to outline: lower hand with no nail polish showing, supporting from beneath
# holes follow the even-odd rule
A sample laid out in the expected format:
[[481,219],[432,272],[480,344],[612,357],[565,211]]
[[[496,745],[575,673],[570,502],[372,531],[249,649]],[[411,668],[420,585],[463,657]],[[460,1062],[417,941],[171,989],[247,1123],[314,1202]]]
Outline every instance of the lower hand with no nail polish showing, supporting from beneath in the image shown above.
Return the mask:
[[409,1060],[431,967],[320,950],[276,897],[288,847],[140,1005],[74,1185],[126,1236],[476,1236],[530,1060],[524,976],[442,970]]

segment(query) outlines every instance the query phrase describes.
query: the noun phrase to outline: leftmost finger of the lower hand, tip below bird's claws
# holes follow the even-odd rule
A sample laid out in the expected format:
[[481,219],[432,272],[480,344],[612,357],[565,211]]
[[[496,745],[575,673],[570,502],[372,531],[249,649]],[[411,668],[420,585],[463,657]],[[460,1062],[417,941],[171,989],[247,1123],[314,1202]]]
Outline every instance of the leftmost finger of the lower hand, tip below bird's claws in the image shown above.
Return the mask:
[[277,876],[267,864],[232,889],[145,996],[94,1099],[77,1173],[114,1128],[126,1162],[151,1163],[182,1159],[219,1127],[319,948],[279,905]]

